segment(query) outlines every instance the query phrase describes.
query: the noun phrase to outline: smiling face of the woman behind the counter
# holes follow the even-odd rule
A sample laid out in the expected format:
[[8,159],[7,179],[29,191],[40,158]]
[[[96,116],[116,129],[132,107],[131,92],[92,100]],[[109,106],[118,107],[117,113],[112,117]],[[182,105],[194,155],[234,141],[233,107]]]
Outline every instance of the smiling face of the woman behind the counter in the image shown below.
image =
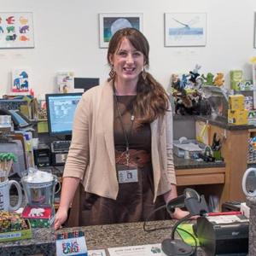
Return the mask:
[[110,57],[118,81],[136,82],[143,70],[144,55],[135,49],[127,38],[124,38],[119,49]]

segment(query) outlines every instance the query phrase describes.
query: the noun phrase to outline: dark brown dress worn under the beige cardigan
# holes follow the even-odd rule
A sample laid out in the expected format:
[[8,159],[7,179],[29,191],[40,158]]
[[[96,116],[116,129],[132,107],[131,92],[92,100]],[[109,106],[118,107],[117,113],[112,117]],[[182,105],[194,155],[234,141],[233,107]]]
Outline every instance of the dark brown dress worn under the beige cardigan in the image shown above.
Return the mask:
[[[137,168],[138,182],[119,183],[117,200],[84,192],[79,188],[79,225],[117,224],[147,220],[156,207],[165,205],[163,196],[154,203],[154,179],[151,163],[151,131],[150,125],[131,126],[132,102],[136,96],[117,96],[121,119],[128,134],[131,151],[130,167]],[[113,137],[116,152],[116,169],[125,170],[125,136],[120,125],[119,114],[114,103]],[[129,132],[131,129],[131,133]],[[129,134],[130,133],[130,134]],[[118,172],[118,171],[117,171]],[[118,174],[117,174],[118,175]],[[74,202],[75,204],[75,202]],[[77,208],[76,206],[75,208]],[[72,218],[72,215],[70,218]],[[169,218],[165,209],[155,212],[149,220]],[[72,219],[69,225],[77,225]]]

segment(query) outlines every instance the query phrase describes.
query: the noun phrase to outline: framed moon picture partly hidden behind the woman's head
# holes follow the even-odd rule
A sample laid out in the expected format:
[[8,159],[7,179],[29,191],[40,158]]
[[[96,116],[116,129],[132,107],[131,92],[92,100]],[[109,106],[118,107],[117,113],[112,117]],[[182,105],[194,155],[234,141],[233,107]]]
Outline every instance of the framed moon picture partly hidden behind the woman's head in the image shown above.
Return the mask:
[[108,48],[113,34],[121,28],[134,27],[143,32],[143,14],[100,14],[100,48]]

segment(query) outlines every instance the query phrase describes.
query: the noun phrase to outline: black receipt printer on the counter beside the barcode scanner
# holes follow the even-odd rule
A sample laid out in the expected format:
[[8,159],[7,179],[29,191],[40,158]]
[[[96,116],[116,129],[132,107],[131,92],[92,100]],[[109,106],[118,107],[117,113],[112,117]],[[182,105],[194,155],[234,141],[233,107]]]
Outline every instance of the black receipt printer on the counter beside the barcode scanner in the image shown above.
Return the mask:
[[196,234],[208,256],[247,255],[249,220],[244,215],[197,219]]

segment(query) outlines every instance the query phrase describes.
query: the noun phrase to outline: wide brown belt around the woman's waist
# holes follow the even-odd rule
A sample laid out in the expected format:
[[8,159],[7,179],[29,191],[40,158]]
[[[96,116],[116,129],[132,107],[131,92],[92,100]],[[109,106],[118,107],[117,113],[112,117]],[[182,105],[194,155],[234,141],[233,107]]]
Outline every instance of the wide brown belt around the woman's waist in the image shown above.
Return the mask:
[[[129,154],[130,167],[143,167],[151,160],[151,154],[149,154],[146,150],[129,149]],[[115,150],[115,163],[118,165],[126,165],[125,152]]]

